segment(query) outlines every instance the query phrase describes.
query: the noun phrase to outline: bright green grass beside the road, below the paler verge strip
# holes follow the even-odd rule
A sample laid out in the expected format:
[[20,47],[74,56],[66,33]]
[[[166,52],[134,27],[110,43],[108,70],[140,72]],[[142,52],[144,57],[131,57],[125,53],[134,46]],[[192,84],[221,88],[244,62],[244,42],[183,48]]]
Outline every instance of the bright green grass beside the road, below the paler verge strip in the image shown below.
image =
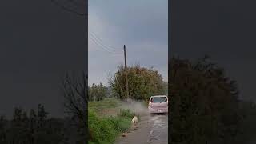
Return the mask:
[[89,143],[113,143],[119,134],[129,130],[130,120],[133,117],[134,113],[130,110],[120,110],[117,116],[99,116],[94,108],[89,107]]

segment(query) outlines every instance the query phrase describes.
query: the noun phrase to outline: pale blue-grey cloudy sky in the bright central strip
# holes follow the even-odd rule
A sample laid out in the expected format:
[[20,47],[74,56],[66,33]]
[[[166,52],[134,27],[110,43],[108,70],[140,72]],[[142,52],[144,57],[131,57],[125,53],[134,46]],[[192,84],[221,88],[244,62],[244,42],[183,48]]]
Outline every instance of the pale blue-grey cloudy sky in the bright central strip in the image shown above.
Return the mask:
[[[107,75],[124,63],[126,45],[127,65],[139,63],[150,67],[168,79],[168,6],[167,0],[89,0],[89,34],[96,34],[104,45],[113,46],[114,53],[89,42],[89,85],[102,82]],[[113,51],[110,50],[109,51]]]

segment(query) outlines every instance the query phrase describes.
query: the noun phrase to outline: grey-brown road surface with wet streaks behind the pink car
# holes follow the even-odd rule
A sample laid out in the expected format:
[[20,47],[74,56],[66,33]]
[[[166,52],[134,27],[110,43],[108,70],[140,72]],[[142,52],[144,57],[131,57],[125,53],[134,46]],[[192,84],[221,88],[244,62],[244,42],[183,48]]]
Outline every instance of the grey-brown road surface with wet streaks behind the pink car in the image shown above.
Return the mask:
[[167,144],[168,143],[168,115],[141,116],[138,128],[125,137],[118,138],[116,144]]

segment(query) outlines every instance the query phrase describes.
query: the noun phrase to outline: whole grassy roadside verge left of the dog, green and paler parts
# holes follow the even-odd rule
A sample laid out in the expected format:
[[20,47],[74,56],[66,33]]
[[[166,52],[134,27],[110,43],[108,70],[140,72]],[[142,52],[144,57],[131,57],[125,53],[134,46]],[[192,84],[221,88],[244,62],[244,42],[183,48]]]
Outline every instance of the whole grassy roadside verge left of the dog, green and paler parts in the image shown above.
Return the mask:
[[130,110],[120,110],[118,99],[108,98],[89,102],[89,144],[109,144],[123,132],[129,130],[134,114]]

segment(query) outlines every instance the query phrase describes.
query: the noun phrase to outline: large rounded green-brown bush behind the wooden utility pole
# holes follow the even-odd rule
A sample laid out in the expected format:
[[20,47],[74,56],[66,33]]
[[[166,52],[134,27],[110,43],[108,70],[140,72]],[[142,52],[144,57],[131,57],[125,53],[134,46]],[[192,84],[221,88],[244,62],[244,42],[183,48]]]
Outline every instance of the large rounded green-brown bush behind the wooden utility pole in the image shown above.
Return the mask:
[[[127,67],[129,97],[146,99],[155,94],[166,94],[165,83],[158,70],[141,66]],[[126,98],[126,70],[118,66],[117,72],[110,76],[110,86],[118,98]]]

